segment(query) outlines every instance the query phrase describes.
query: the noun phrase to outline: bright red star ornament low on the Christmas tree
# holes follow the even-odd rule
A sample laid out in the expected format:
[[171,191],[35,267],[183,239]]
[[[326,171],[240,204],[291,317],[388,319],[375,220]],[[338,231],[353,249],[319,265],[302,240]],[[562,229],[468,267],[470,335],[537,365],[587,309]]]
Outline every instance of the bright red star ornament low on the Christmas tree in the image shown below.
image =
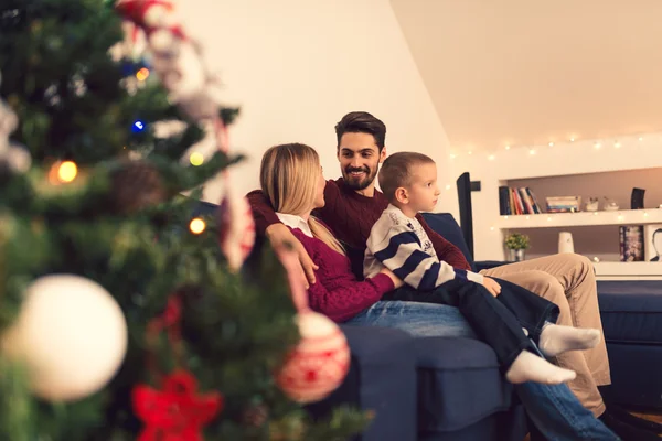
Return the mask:
[[202,427],[223,408],[221,394],[197,395],[197,381],[185,370],[167,376],[162,389],[134,388],[134,411],[146,426],[138,441],[203,441]]

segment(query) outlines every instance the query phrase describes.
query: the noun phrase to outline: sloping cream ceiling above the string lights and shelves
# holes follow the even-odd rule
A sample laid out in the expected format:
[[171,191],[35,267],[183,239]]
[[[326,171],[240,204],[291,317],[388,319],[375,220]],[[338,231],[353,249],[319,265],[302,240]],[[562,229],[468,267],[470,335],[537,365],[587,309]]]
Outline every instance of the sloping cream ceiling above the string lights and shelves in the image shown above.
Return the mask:
[[662,0],[391,0],[451,148],[662,130]]

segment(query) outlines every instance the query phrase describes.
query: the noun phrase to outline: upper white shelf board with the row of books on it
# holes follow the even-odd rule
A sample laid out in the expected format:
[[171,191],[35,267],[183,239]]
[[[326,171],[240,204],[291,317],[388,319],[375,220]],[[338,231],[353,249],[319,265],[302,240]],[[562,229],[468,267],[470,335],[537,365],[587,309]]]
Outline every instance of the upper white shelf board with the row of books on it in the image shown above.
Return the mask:
[[662,209],[521,214],[515,216],[500,216],[499,218],[499,228],[501,229],[640,224],[662,224]]

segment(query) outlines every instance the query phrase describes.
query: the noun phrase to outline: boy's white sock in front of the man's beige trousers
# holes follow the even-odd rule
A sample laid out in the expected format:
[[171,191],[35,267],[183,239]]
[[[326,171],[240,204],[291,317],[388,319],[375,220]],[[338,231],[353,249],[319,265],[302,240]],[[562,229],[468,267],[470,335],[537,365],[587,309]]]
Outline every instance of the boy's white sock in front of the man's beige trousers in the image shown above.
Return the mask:
[[567,351],[583,351],[600,343],[600,331],[548,323],[543,327],[538,348],[545,356],[554,357]]

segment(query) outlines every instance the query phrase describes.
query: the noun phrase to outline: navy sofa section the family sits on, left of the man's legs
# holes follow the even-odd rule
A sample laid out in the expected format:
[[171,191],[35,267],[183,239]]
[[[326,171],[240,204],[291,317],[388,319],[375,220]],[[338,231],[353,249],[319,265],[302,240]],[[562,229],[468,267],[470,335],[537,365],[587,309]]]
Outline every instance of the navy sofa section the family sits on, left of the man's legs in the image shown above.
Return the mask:
[[[469,256],[450,214],[424,216]],[[501,263],[472,262],[476,269]],[[524,409],[487,344],[413,337],[392,329],[341,327],[352,351],[350,373],[331,396],[310,406],[314,416],[342,404],[374,410],[373,422],[357,437],[363,441],[522,441],[526,435]]]

